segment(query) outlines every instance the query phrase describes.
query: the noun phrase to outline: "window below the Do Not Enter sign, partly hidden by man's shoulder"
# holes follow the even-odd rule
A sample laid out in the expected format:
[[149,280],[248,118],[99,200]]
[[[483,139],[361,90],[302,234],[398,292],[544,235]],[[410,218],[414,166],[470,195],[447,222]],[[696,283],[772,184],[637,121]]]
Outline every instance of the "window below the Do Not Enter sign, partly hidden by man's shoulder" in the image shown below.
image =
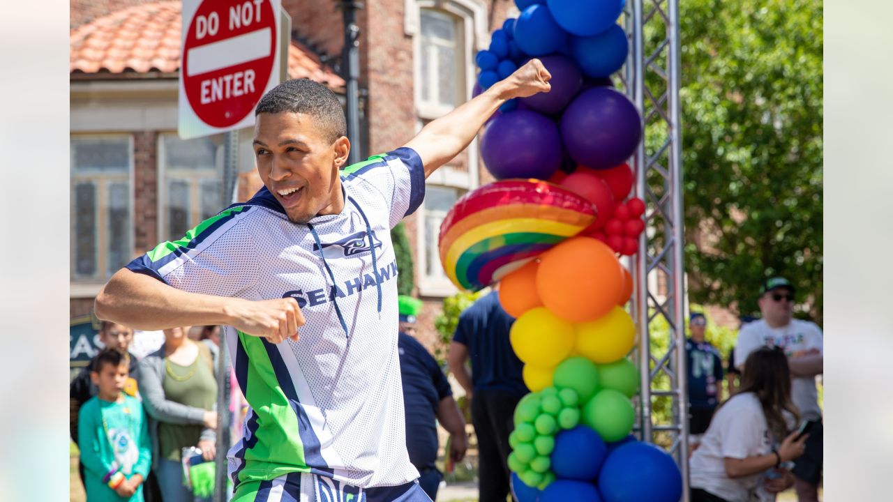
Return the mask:
[[183,237],[223,209],[223,135],[184,140],[174,133],[162,134],[158,163],[163,172],[158,188],[162,240]]

